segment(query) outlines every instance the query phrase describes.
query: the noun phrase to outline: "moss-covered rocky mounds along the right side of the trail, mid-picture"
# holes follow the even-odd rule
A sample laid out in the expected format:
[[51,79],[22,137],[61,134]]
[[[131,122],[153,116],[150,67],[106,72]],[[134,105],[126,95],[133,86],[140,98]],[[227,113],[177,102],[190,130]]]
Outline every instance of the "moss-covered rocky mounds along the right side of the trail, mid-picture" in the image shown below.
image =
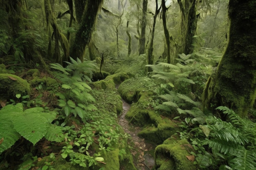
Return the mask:
[[161,144],[177,131],[178,125],[153,109],[153,89],[156,86],[157,84],[149,81],[147,77],[134,77],[120,84],[118,92],[127,102],[132,103],[126,118],[130,123],[144,127],[138,136]]

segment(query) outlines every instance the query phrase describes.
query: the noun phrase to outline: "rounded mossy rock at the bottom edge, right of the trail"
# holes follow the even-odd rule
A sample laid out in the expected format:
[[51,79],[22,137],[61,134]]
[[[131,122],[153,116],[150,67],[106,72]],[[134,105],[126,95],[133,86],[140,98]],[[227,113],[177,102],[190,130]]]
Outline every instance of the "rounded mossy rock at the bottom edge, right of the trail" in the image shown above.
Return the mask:
[[166,139],[155,148],[155,170],[196,170],[193,162],[186,156],[189,153],[189,142],[185,139],[176,141]]

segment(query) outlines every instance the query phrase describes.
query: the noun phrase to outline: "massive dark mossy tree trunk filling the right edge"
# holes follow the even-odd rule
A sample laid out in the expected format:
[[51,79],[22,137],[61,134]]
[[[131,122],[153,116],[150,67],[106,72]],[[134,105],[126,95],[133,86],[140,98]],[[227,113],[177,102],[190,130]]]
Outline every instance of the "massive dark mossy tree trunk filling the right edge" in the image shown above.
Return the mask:
[[204,90],[204,95],[210,96],[209,103],[232,108],[242,117],[256,97],[255,9],[256,0],[229,0],[229,42],[212,88]]

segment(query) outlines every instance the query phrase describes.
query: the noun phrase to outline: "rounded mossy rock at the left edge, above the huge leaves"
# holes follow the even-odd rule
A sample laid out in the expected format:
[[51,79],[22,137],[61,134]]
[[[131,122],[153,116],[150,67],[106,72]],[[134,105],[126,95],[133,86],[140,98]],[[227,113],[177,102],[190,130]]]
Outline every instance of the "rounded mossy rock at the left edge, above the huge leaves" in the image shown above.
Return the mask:
[[15,99],[16,94],[29,95],[29,83],[13,74],[0,74],[0,94],[4,99]]

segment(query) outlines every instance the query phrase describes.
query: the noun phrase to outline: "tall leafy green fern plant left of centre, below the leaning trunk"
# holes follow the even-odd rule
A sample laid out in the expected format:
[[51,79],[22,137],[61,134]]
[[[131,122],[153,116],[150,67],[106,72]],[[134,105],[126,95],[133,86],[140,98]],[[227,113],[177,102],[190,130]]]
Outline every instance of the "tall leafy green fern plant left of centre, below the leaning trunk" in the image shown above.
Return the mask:
[[[91,61],[81,62],[78,58],[76,60],[70,58],[70,62],[66,63],[68,64],[66,68],[60,64],[52,64],[52,68],[61,71],[57,75],[63,82],[61,86],[63,92],[56,94],[60,98],[58,106],[63,109],[63,114],[66,117],[73,114],[74,117],[78,115],[84,119],[85,111],[92,110],[90,103],[95,101],[94,97],[90,95],[92,88],[86,81],[91,81],[96,65]],[[97,110],[95,107],[93,109]]]

